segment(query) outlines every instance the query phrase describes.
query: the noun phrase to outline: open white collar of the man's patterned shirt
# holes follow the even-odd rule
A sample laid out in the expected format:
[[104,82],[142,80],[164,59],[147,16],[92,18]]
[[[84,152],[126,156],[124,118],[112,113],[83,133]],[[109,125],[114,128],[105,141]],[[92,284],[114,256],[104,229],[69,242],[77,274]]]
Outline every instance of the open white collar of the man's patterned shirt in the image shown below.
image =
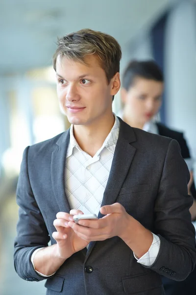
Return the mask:
[[[116,115],[114,114],[115,117],[115,122],[114,125],[110,131],[110,133],[108,134],[108,136],[106,137],[103,145],[101,148],[99,148],[99,150],[97,151],[96,155],[99,156],[101,151],[103,150],[103,148],[107,148],[108,150],[110,150],[113,154],[116,148],[116,144],[117,144],[117,140],[119,137],[119,129],[120,129],[120,121],[119,119],[116,117]],[[78,143],[76,142],[74,135],[73,135],[73,124],[70,127],[70,143],[67,149],[67,158],[70,157],[73,154],[73,149],[77,148],[79,151],[84,152],[78,145]]]

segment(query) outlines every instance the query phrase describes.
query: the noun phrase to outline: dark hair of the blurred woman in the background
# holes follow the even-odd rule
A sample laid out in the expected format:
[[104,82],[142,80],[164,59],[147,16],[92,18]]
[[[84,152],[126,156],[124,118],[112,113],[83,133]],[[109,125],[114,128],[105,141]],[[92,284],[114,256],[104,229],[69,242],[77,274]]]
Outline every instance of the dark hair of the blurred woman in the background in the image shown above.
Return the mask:
[[163,73],[160,67],[153,60],[130,61],[123,73],[123,88],[128,91],[137,77],[155,80],[158,82],[164,81]]

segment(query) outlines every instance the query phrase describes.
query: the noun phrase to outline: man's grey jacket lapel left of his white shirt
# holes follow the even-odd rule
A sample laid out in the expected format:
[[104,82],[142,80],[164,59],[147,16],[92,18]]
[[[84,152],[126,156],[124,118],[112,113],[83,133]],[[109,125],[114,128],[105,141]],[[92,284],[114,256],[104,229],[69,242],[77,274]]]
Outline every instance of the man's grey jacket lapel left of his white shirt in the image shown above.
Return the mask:
[[64,132],[56,143],[51,156],[51,181],[54,196],[60,211],[70,212],[71,208],[65,193],[65,161],[70,141],[70,132]]

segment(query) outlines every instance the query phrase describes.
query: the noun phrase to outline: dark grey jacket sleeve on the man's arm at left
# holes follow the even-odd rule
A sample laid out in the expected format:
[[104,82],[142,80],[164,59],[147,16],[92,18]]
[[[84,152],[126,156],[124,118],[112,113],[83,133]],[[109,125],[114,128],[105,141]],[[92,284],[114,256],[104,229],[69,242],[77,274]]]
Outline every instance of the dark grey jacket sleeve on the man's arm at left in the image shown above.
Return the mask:
[[45,278],[34,270],[31,255],[36,249],[48,246],[49,233],[28,177],[28,148],[25,148],[23,154],[16,191],[19,220],[14,243],[14,266],[21,278],[27,281],[40,281]]

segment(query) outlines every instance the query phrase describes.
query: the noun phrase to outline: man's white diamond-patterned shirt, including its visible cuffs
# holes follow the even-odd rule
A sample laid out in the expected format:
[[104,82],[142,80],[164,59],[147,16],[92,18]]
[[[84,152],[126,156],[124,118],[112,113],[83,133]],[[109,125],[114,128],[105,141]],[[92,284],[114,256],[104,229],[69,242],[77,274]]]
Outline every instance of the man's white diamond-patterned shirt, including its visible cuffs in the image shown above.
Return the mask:
[[[84,214],[96,213],[98,215],[112,166],[119,129],[120,121],[115,116],[114,126],[102,147],[91,157],[77,144],[73,135],[73,125],[71,125],[70,143],[65,163],[65,192],[71,209],[79,209]],[[147,253],[140,259],[134,256],[138,263],[151,266],[158,255],[159,248],[160,238],[153,234],[153,241]],[[39,250],[33,253],[32,263],[35,253]]]

